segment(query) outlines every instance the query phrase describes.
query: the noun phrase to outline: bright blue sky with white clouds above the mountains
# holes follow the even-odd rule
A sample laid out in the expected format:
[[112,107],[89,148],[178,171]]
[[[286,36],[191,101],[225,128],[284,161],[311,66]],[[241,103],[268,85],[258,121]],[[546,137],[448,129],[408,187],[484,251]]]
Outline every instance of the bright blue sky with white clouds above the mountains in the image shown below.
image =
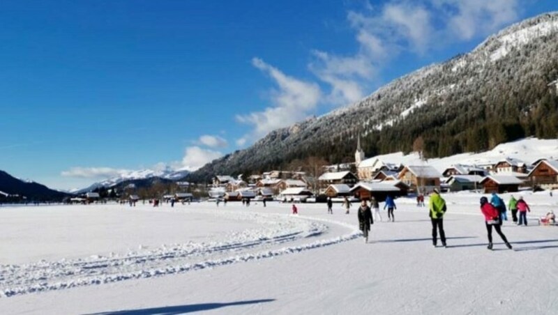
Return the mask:
[[555,1],[1,1],[0,169],[196,169]]

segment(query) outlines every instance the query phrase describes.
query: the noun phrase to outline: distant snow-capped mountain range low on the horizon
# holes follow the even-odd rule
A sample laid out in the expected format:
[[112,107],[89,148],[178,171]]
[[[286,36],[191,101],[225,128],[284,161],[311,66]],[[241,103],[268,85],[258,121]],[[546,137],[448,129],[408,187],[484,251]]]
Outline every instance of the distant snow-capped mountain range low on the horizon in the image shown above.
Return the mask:
[[77,190],[73,190],[71,191],[73,194],[82,194],[84,192],[91,192],[91,190],[95,190],[96,188],[99,187],[114,187],[116,185],[118,185],[119,183],[128,181],[128,180],[144,180],[144,179],[149,179],[149,178],[163,178],[166,180],[181,180],[181,178],[184,178],[186,175],[188,175],[190,172],[186,171],[186,170],[175,170],[175,169],[171,169],[169,167],[165,168],[165,169],[140,169],[137,171],[127,171],[124,172],[122,174],[120,174],[119,176],[115,176],[112,178],[108,178],[106,180],[102,180],[100,182],[97,183],[93,183],[92,185],[90,185],[89,187],[86,188],[82,188],[82,189],[77,189]]

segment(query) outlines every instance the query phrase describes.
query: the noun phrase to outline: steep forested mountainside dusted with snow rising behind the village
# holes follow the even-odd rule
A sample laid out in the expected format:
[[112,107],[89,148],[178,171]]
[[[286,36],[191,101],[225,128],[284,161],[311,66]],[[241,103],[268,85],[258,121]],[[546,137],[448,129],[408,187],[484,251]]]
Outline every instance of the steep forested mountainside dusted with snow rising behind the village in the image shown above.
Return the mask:
[[409,152],[426,157],[478,152],[497,144],[558,135],[558,13],[509,26],[468,54],[395,79],[367,98],[270,132],[250,148],[188,176],[252,174],[296,159],[353,160],[361,135],[367,156]]

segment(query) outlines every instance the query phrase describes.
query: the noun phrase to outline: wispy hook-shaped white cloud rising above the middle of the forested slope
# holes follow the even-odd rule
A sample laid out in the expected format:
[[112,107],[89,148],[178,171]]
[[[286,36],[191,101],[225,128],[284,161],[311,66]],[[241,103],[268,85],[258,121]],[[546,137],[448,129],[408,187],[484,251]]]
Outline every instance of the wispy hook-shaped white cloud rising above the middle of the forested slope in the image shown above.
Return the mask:
[[278,89],[270,93],[271,107],[262,112],[236,115],[236,121],[254,128],[246,137],[262,137],[271,130],[301,121],[316,108],[322,95],[317,84],[289,77],[262,59],[252,59],[252,65],[269,75]]

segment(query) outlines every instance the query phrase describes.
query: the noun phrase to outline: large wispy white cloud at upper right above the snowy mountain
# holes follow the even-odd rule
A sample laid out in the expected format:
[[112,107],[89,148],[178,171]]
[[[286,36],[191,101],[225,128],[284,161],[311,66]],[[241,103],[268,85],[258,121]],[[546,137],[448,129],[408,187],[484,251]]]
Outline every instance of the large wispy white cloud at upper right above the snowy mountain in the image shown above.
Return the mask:
[[326,102],[346,105],[361,100],[365,88],[401,52],[429,50],[486,36],[518,18],[519,0],[392,0],[381,6],[365,1],[347,20],[359,49],[339,56],[315,50],[310,70],[331,86]]

